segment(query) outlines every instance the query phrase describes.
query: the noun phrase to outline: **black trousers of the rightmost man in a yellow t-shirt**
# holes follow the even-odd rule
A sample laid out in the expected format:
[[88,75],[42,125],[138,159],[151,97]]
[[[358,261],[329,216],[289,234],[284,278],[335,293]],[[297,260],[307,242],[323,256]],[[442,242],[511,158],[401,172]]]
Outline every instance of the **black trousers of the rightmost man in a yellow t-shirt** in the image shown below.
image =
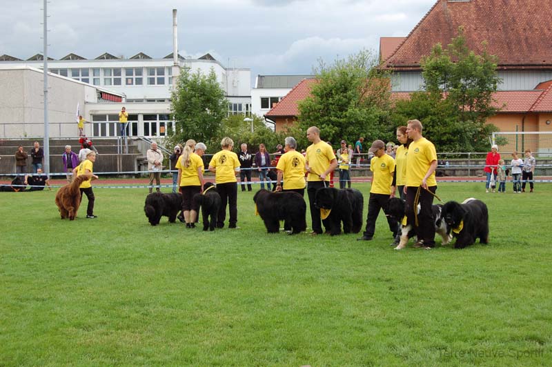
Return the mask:
[[[428,188],[435,194],[437,186],[431,186]],[[424,240],[424,245],[428,247],[435,246],[435,218],[433,218],[433,212],[431,206],[433,205],[433,195],[427,190],[420,188],[420,198],[418,204],[420,204],[420,213],[418,213],[418,226],[415,226],[414,199],[418,188],[415,186],[406,186],[406,217],[408,218],[408,224],[411,224],[415,228],[418,241]]]

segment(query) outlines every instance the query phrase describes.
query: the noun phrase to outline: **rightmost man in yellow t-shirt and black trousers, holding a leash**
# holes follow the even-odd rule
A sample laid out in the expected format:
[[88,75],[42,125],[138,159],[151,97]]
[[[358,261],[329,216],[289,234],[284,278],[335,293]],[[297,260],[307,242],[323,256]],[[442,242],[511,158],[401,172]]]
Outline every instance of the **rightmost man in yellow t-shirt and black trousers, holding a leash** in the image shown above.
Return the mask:
[[[437,168],[437,152],[431,141],[422,136],[422,123],[419,120],[409,120],[406,125],[406,134],[412,139],[408,146],[406,155],[406,224],[414,228],[417,242],[414,247],[433,248],[435,247],[435,225],[431,206],[433,195],[437,190],[435,181],[435,168]],[[420,212],[415,210],[420,204]],[[395,250],[404,248],[399,245]]]

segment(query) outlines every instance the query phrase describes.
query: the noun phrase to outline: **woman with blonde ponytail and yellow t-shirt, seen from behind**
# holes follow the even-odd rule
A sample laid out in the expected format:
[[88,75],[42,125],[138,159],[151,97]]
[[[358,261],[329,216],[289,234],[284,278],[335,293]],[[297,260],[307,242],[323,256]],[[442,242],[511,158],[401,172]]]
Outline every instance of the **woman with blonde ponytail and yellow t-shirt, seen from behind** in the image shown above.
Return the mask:
[[204,163],[203,159],[197,155],[194,150],[202,150],[201,155],[206,147],[203,143],[195,143],[195,140],[189,139],[186,141],[184,151],[179,157],[175,168],[178,170],[177,184],[182,194],[182,213],[186,228],[195,228],[195,219],[197,218],[197,210],[193,208],[193,197],[195,194],[203,192],[205,180],[203,177]]

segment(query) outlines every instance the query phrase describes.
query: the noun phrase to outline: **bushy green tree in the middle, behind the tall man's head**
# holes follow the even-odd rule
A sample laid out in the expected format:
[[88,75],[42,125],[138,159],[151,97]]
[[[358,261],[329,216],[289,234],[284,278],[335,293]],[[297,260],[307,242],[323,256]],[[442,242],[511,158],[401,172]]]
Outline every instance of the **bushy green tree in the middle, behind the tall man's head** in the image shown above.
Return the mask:
[[394,127],[388,121],[391,92],[388,74],[377,70],[377,57],[362,50],[331,66],[319,61],[315,69],[318,83],[311,96],[299,102],[300,130],[320,129],[322,139],[333,143],[355,141],[360,135],[370,139],[390,139]]

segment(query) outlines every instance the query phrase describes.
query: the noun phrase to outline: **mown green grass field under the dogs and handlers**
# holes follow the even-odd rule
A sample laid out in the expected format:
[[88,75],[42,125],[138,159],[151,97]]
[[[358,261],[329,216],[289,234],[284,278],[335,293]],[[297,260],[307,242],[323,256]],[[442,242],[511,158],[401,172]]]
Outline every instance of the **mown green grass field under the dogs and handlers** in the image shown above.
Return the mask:
[[75,221],[0,193],[0,366],[550,365],[550,184],[440,184],[489,206],[465,250],[395,251],[381,214],[370,242],[268,235],[252,192],[237,230],[152,227],[146,192],[95,188]]

